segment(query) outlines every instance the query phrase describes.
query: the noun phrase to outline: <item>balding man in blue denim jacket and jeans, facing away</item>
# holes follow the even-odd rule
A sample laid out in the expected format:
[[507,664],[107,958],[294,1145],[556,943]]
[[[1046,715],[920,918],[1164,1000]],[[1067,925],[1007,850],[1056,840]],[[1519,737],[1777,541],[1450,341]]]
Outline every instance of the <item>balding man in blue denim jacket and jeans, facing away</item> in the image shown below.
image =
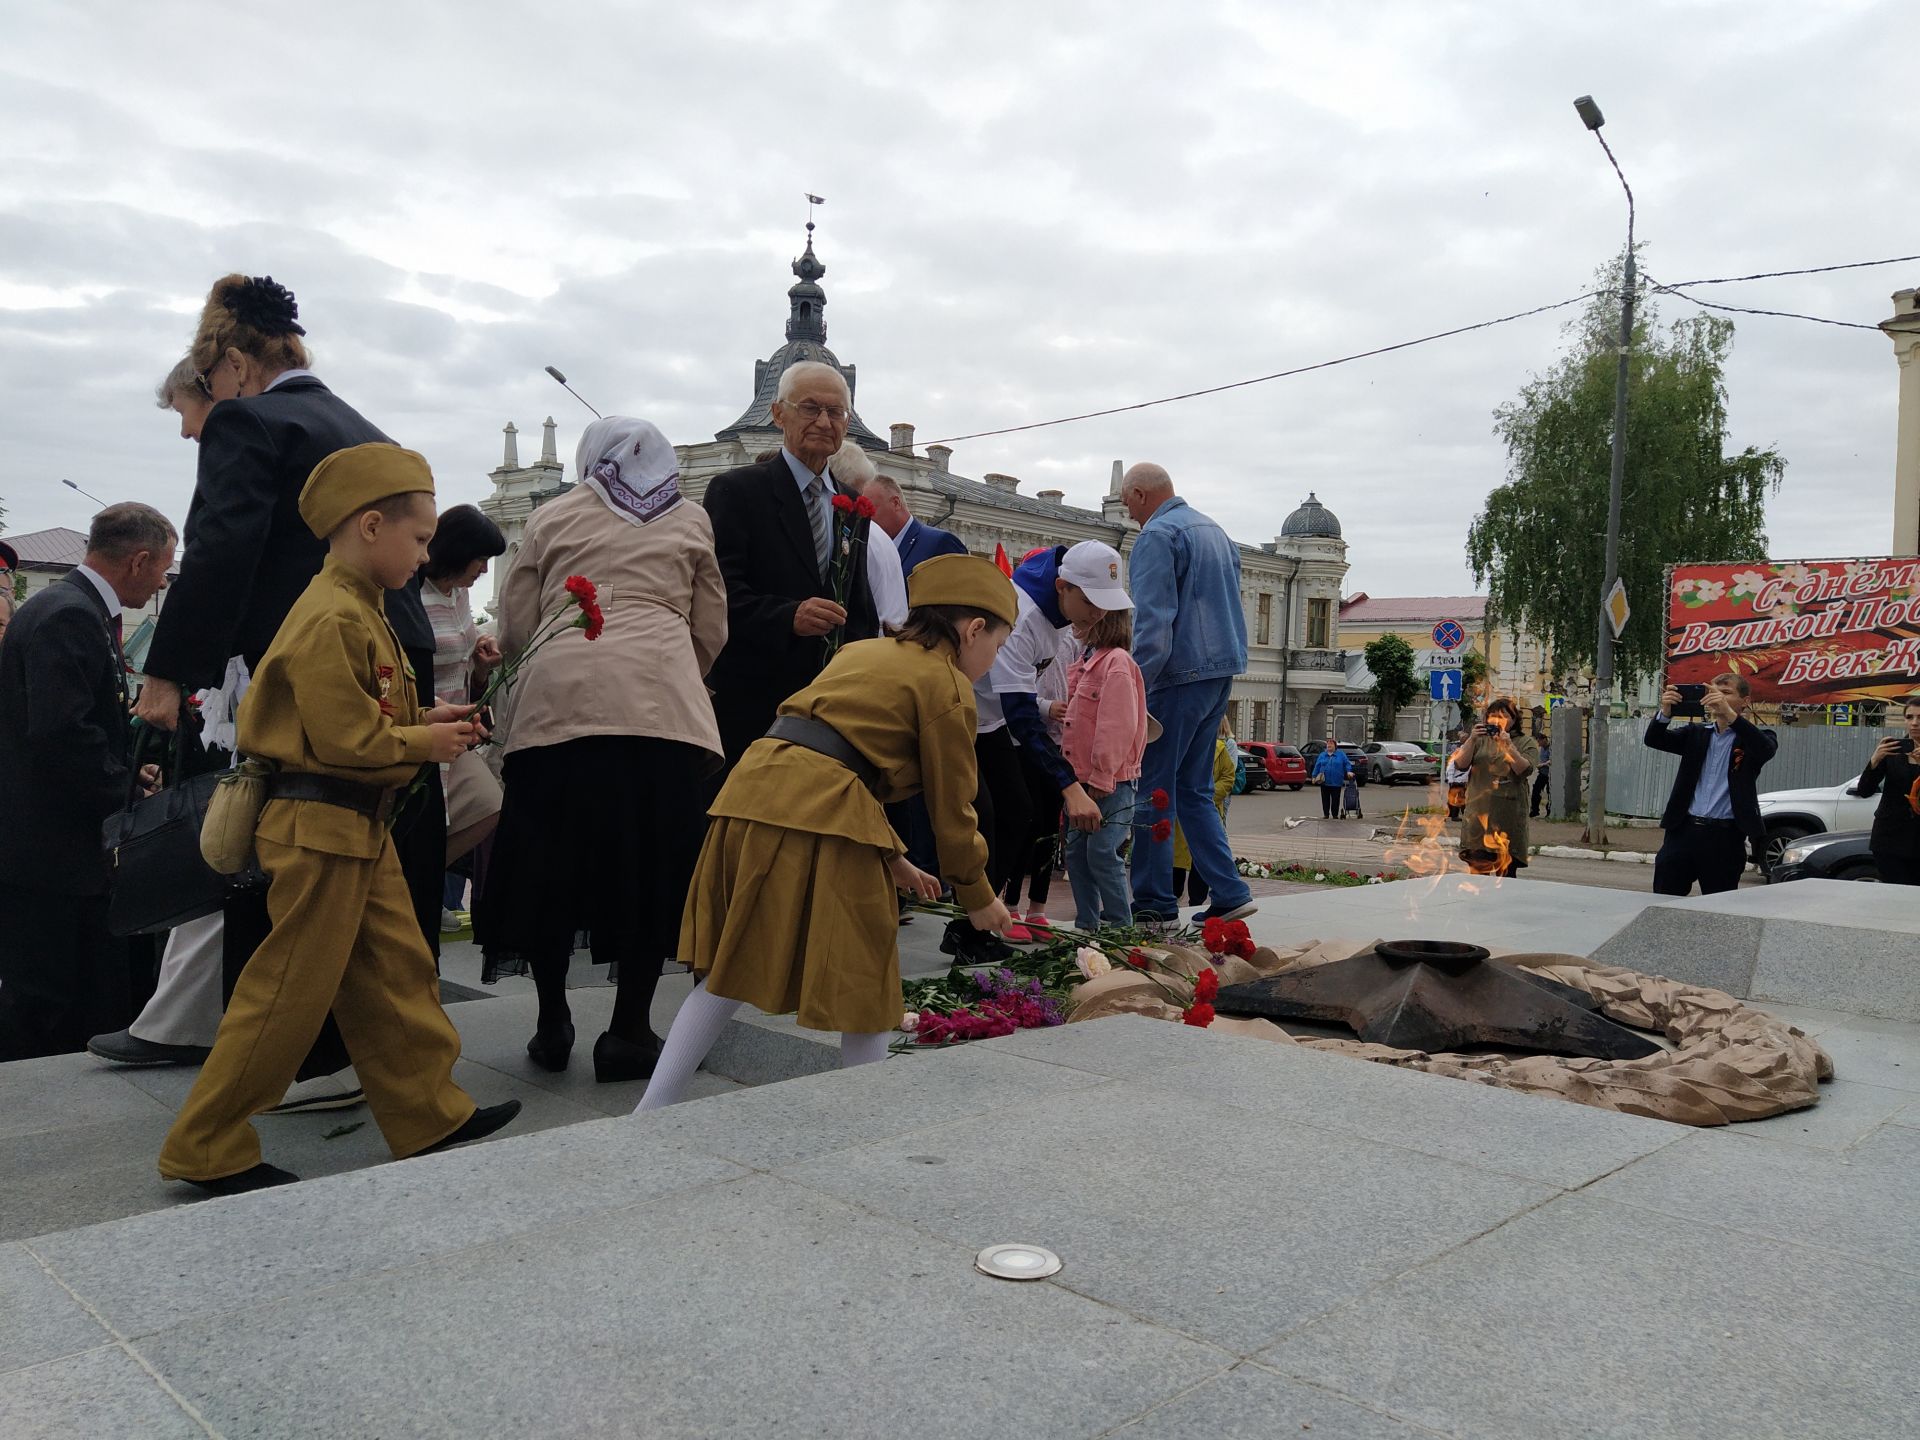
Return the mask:
[[[1194,870],[1213,902],[1200,920],[1254,912],[1233,864],[1227,826],[1213,808],[1213,741],[1233,678],[1246,668],[1240,551],[1227,532],[1173,493],[1158,465],[1121,476],[1121,503],[1140,526],[1127,566],[1133,586],[1133,659],[1146,680],[1146,710],[1162,735],[1146,747],[1140,793],[1165,791],[1187,835]],[[1150,806],[1133,833],[1133,912],[1139,922],[1179,918],[1173,843],[1154,839]]]

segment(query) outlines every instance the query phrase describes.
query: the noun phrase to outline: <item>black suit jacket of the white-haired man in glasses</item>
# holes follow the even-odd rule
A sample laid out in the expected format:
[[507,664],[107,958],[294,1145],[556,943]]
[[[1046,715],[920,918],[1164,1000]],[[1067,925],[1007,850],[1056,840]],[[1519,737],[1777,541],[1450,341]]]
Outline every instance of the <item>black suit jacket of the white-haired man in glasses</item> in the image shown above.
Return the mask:
[[[707,486],[714,553],[726,578],[728,641],[707,676],[714,720],[728,764],[774,724],[780,703],[804,689],[826,666],[826,643],[793,634],[803,599],[831,599],[833,588],[814,559],[806,501],[785,455],[716,474]],[[858,520],[856,543],[872,520]],[[843,639],[879,634],[866,563],[852,566]]]

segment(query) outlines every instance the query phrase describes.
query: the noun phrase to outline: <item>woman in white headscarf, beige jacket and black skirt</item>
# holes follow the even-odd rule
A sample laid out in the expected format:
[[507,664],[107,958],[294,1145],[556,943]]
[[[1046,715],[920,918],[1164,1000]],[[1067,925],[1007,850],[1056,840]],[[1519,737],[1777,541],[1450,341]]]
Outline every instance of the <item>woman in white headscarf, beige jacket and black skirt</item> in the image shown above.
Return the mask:
[[726,645],[726,582],[707,511],[680,495],[674,447],[647,420],[588,426],[580,484],[541,505],[507,568],[499,647],[513,657],[566,605],[566,578],[599,591],[607,628],[568,630],[515,676],[505,804],[478,935],[524,956],[540,991],[526,1052],[564,1069],[574,1044],[566,966],[576,931],[593,964],[618,962],[612,1023],[593,1046],[601,1081],[653,1073],[647,1023],[674,952],[707,829],[720,732],[705,676]]

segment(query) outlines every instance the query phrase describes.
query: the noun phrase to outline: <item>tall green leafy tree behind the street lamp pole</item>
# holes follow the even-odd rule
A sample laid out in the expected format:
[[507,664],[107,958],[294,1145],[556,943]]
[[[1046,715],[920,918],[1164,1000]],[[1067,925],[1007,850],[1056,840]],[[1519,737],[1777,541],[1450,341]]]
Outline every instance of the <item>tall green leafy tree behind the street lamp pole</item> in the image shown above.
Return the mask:
[[[1494,411],[1507,480],[1467,530],[1490,620],[1532,634],[1561,672],[1594,662],[1607,566],[1619,263],[1599,288],[1567,326],[1561,361]],[[1753,445],[1726,453],[1732,346],[1732,321],[1697,315],[1661,328],[1636,301],[1620,492],[1620,580],[1634,612],[1615,647],[1622,684],[1663,664],[1668,564],[1766,559],[1764,505],[1786,461]]]

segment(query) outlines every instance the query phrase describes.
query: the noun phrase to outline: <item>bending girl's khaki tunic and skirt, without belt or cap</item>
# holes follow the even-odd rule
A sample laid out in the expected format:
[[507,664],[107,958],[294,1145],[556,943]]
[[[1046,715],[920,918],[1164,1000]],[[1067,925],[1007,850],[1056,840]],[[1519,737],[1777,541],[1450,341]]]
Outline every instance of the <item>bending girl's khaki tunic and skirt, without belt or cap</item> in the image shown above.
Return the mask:
[[833,726],[879,772],[780,739],[747,749],[714,801],[680,958],[707,989],[808,1029],[900,1023],[899,914],[887,860],[906,847],[883,804],[925,795],[941,872],[968,910],[993,902],[973,816],[973,687],[952,651],[847,645],[781,714]]

